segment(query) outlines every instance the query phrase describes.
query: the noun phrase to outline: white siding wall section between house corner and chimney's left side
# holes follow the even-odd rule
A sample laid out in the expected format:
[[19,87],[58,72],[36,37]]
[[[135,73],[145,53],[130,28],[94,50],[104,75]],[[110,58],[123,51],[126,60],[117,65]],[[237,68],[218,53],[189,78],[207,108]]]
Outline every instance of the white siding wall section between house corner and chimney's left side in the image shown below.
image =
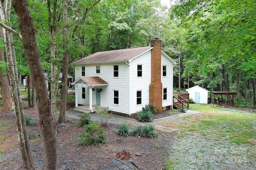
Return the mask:
[[[142,65],[142,77],[137,76],[137,65]],[[151,82],[151,51],[130,62],[130,114],[136,113],[149,103]],[[137,105],[137,91],[142,91],[142,104]]]

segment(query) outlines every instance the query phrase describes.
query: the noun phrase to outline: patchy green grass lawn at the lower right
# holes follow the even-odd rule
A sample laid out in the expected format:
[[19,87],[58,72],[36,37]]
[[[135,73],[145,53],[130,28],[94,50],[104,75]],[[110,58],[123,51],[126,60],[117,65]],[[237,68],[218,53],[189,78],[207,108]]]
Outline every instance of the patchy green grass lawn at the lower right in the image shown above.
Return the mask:
[[158,125],[176,129],[165,169],[256,169],[256,114],[206,104]]

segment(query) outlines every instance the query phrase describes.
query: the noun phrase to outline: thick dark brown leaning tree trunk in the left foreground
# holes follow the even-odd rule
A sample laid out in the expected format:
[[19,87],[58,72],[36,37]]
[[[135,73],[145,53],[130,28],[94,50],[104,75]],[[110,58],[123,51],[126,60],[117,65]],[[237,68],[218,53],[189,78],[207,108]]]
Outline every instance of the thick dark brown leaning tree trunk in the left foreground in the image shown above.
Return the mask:
[[33,80],[37,82],[35,86],[36,94],[40,94],[36,95],[36,99],[38,101],[40,127],[44,142],[44,165],[42,170],[56,170],[56,137],[55,129],[53,128],[55,120],[51,113],[51,101],[44,80],[44,72],[36,43],[34,23],[27,0],[12,0],[12,6],[18,16],[22,43],[24,45],[31,76]]

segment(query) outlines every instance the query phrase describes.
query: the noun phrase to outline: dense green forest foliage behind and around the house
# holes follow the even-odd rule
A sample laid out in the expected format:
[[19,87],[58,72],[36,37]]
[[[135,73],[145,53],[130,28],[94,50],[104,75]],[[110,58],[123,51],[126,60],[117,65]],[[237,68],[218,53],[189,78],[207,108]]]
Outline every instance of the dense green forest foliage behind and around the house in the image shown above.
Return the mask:
[[[255,107],[255,0],[170,0],[169,7],[160,0],[98,0],[88,9],[95,2],[68,1],[65,45],[62,1],[28,0],[44,72],[50,72],[53,61],[62,72],[67,51],[72,63],[97,51],[147,46],[158,37],[163,51],[178,63],[174,87],[238,92],[239,100]],[[13,9],[10,23],[19,31]],[[52,39],[49,25],[54,28]],[[18,72],[29,75],[24,47],[15,36],[14,45]],[[68,74],[74,76],[73,66],[68,66]]]

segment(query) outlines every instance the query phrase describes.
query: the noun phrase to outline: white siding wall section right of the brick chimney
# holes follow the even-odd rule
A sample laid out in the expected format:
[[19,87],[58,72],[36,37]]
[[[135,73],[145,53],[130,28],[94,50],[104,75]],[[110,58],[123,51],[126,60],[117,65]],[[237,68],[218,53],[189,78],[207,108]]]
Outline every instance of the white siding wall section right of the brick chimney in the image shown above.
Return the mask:
[[[163,66],[166,66],[166,76],[163,76]],[[167,88],[167,100],[162,101],[162,107],[170,106],[173,98],[173,64],[163,55],[161,56],[161,82],[163,89]]]

